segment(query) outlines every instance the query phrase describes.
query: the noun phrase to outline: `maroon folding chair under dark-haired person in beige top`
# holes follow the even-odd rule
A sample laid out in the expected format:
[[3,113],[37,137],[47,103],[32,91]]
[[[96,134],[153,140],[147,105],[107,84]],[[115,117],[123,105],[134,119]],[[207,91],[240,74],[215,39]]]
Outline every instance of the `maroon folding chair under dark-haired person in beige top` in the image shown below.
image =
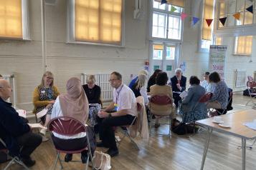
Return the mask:
[[[151,136],[152,133],[152,116],[158,116],[158,118],[161,117],[166,117],[169,116],[169,123],[161,123],[161,124],[169,124],[169,134],[158,134],[158,135],[163,135],[163,136],[169,136],[171,137],[171,107],[172,107],[172,99],[169,96],[166,96],[165,94],[159,94],[159,95],[154,95],[151,96],[151,98],[149,99],[149,111],[150,111],[150,133],[149,135]],[[156,107],[160,107],[160,106],[170,106],[169,109],[166,109],[164,111],[162,110],[158,110]]]

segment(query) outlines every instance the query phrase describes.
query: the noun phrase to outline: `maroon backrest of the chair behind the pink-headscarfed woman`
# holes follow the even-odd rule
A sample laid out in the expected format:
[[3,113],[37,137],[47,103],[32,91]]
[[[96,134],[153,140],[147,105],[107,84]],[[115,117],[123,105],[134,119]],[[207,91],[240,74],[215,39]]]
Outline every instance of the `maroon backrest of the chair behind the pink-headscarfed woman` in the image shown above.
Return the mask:
[[72,136],[87,131],[81,121],[69,116],[59,116],[52,119],[49,121],[48,129],[49,131],[65,136]]

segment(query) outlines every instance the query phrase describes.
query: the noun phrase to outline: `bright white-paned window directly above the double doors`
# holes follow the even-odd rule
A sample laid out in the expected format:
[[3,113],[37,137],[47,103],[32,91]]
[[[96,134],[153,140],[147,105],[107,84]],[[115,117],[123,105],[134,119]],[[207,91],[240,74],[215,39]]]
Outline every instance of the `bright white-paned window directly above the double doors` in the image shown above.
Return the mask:
[[183,8],[153,1],[152,34],[153,38],[181,39],[181,12]]

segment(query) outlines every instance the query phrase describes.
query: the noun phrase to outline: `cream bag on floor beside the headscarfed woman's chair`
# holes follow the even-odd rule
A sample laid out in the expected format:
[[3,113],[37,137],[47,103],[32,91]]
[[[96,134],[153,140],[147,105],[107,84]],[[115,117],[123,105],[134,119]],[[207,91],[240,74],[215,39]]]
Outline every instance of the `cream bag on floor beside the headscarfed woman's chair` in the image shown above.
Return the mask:
[[93,155],[94,169],[108,170],[110,166],[110,155],[105,154],[102,151],[95,151]]

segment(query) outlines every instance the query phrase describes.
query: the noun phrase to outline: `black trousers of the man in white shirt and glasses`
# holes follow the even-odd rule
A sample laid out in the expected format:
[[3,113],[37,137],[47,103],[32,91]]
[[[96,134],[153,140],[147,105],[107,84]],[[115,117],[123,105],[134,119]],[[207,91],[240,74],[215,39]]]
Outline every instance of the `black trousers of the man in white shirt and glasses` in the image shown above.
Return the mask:
[[126,114],[125,116],[110,116],[105,119],[98,117],[100,139],[102,139],[103,144],[110,149],[118,149],[115,143],[115,131],[113,126],[131,124],[134,118],[135,116],[132,116],[131,114]]

